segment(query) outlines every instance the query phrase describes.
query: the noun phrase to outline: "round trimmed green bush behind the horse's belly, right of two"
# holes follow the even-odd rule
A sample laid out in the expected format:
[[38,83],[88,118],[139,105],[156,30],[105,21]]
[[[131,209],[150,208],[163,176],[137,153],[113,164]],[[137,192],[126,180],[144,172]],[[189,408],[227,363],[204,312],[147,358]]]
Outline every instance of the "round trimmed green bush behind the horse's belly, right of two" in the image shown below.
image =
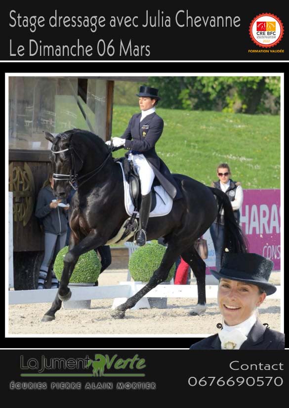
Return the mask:
[[[146,244],[137,248],[128,262],[128,269],[134,281],[149,282],[161,265],[165,250],[165,246],[160,244]],[[172,265],[165,282],[172,279],[174,270],[175,264]]]

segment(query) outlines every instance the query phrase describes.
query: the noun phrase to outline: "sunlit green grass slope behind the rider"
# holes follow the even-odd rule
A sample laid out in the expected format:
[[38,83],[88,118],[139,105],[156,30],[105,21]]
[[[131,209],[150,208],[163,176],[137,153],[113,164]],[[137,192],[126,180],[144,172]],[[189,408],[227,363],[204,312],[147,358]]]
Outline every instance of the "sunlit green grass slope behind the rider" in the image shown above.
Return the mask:
[[[121,136],[137,107],[113,108],[113,136]],[[243,188],[280,188],[280,116],[157,108],[165,122],[156,144],[172,173],[210,185],[216,167],[228,163]],[[114,153],[120,157],[124,150]]]

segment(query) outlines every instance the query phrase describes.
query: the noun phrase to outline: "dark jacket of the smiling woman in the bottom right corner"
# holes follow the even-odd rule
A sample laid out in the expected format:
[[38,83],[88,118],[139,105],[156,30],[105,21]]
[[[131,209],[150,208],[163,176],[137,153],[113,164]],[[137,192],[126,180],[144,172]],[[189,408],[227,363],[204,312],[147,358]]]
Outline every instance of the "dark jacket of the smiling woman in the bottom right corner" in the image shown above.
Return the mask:
[[[263,326],[258,320],[248,333],[240,350],[284,350],[285,335]],[[190,350],[221,350],[218,334],[206,337],[190,347]]]

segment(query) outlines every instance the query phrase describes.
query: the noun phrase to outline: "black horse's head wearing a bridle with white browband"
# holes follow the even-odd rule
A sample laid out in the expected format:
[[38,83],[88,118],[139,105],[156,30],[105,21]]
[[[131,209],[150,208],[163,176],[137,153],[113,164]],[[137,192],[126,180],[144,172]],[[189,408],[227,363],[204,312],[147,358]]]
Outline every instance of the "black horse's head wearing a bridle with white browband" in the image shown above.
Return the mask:
[[56,197],[65,198],[70,192],[69,182],[72,181],[73,176],[70,151],[71,134],[61,133],[54,137],[51,133],[44,133],[45,139],[52,143],[53,193]]

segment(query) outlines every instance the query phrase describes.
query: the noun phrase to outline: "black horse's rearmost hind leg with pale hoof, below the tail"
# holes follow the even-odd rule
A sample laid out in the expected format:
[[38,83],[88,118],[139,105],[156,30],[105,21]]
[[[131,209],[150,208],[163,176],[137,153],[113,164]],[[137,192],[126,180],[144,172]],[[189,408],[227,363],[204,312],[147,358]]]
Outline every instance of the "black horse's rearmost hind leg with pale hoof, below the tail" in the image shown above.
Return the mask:
[[198,285],[198,304],[190,311],[190,315],[202,315],[206,311],[206,263],[194,247],[183,252],[181,257],[192,268]]

